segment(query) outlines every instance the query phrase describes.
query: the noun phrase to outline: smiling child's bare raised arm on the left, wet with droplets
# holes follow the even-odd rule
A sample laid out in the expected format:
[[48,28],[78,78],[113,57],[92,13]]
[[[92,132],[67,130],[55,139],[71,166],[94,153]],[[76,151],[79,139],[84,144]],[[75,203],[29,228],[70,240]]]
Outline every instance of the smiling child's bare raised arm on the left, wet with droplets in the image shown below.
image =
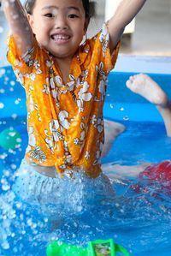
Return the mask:
[[3,0],[3,9],[20,55],[32,49],[33,33],[19,0]]

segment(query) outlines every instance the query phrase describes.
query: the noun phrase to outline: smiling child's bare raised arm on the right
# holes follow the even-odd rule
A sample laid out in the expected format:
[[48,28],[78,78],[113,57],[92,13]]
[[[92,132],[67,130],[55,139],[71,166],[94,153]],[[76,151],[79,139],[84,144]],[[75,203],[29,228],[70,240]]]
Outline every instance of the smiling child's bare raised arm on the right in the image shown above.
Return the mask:
[[[115,1],[115,0],[113,0]],[[122,0],[115,11],[115,15],[109,20],[110,51],[113,52],[121,35],[129,22],[143,7],[146,0]]]

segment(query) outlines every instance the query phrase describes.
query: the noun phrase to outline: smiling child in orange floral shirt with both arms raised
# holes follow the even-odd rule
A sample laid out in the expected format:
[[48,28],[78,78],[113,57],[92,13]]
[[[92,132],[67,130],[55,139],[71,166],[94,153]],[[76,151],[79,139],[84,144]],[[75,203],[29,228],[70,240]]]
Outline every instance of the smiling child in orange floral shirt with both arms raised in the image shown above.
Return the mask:
[[[19,0],[3,3],[11,29],[8,60],[27,93],[29,140],[15,190],[24,199],[54,202],[59,189],[72,190],[74,177],[84,176],[91,193],[105,193],[109,182],[100,157],[106,80],[124,28],[145,0],[121,1],[92,39],[86,39],[88,0],[28,0],[26,11]],[[73,179],[66,183],[66,176]]]

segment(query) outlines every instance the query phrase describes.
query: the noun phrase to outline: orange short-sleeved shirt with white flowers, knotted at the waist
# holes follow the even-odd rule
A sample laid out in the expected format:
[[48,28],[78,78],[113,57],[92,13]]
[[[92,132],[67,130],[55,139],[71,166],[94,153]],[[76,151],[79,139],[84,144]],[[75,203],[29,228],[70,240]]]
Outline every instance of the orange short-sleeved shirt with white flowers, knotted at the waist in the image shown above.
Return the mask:
[[83,170],[88,176],[101,173],[103,103],[106,80],[119,51],[109,51],[109,32],[103,29],[87,39],[73,57],[68,82],[53,57],[37,41],[24,57],[9,38],[8,60],[27,94],[29,164],[56,166],[60,175]]

